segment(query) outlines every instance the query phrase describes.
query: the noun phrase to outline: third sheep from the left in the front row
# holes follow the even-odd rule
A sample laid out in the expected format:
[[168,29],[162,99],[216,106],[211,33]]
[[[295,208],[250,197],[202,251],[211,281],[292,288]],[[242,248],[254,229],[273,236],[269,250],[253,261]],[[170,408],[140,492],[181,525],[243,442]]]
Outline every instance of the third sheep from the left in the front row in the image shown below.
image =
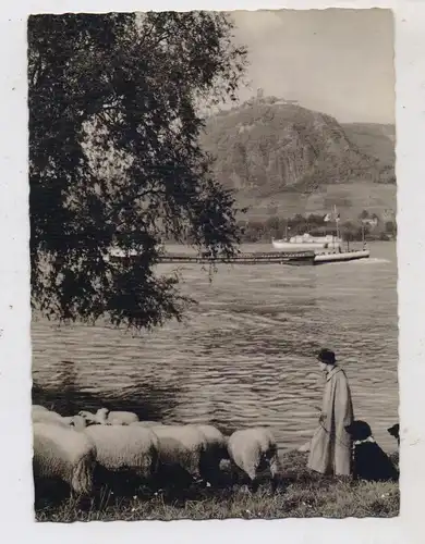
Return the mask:
[[149,428],[158,436],[161,471],[180,468],[193,481],[202,480],[201,461],[206,452],[206,438],[194,425],[155,425]]

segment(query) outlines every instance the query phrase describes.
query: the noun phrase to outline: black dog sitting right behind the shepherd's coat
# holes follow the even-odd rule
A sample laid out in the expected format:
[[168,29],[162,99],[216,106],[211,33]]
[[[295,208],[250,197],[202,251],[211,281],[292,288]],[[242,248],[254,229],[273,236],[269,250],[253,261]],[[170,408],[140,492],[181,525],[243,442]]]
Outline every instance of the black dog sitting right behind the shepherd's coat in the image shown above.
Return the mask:
[[397,481],[399,472],[388,455],[375,442],[365,421],[356,420],[345,426],[353,440],[353,478],[371,482]]

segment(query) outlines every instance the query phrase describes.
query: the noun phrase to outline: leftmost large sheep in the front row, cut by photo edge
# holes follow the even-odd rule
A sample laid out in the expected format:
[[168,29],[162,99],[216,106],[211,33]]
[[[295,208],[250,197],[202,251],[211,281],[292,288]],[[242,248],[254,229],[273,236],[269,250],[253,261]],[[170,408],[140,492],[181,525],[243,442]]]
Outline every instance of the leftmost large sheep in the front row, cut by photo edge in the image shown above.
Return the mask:
[[84,433],[37,422],[33,425],[33,436],[35,482],[61,480],[77,495],[92,492],[96,447]]

